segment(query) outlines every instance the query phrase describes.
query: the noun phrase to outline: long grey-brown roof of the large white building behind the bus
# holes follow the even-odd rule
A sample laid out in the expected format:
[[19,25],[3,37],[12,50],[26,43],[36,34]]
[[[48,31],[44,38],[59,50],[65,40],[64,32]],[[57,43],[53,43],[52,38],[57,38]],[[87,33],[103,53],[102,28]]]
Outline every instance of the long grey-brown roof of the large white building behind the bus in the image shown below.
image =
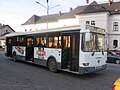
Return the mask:
[[120,14],[120,1],[113,2],[111,3],[110,6],[108,5],[108,3],[98,4],[96,1],[93,1],[89,5],[77,6],[75,9],[70,10],[70,12],[66,12],[66,13],[50,14],[43,16],[33,15],[22,25],[57,22],[59,19],[75,18],[76,14],[84,14],[84,13],[86,14],[86,13],[96,13],[96,12],[106,12],[106,11],[110,12],[111,15]]

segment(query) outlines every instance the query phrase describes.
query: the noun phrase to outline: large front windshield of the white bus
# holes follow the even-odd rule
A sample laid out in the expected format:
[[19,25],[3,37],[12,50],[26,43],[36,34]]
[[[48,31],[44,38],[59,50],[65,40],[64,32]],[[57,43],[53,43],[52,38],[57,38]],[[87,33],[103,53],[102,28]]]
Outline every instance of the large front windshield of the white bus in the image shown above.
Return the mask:
[[82,34],[82,50],[83,51],[105,51],[105,35],[99,33],[83,33]]

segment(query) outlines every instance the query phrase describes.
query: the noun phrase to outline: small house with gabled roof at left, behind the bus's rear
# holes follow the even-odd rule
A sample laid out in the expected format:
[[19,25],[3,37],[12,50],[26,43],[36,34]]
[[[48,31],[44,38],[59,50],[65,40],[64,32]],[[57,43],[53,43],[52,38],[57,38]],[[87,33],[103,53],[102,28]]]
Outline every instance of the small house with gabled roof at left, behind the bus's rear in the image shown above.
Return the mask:
[[0,48],[5,48],[5,35],[15,32],[9,25],[0,24]]

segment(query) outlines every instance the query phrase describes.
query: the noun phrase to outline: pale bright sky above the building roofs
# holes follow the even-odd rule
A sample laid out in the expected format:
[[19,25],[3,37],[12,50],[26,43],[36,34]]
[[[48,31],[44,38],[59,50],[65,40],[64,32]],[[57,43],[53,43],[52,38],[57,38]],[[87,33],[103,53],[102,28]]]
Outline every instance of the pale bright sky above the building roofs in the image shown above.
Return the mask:
[[[40,2],[45,7],[47,6],[46,0],[0,0],[0,23],[8,24],[15,31],[20,31],[21,24],[33,15],[46,15],[47,10],[35,1]],[[93,1],[108,2],[108,0],[89,0],[89,3]],[[74,9],[85,4],[86,0],[49,0],[50,8],[59,5],[51,8],[49,14],[55,14],[59,11],[69,12],[70,7]]]

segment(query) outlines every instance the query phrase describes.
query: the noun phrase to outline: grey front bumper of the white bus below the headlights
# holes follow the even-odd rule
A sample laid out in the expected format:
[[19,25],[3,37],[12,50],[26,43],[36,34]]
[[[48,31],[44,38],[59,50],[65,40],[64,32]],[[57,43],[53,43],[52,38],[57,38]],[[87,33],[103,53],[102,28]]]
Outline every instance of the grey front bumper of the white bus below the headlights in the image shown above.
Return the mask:
[[98,67],[79,67],[79,74],[88,74],[106,69],[107,64]]

